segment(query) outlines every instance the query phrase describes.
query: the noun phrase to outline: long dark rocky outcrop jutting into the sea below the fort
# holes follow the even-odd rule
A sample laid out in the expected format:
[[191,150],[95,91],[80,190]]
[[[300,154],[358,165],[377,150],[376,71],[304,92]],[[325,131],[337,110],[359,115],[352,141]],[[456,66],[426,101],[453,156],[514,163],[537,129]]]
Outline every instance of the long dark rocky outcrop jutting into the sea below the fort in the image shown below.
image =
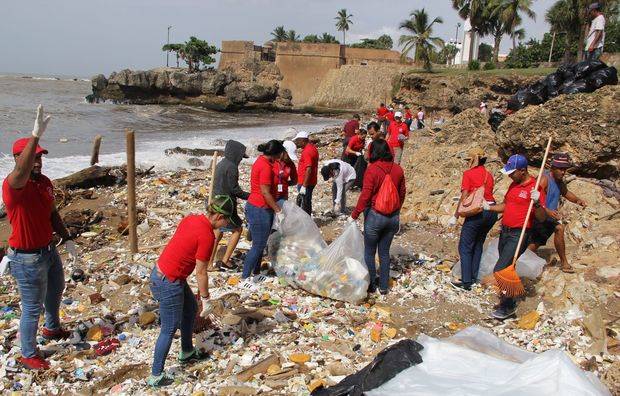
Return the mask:
[[[290,92],[279,91],[277,70],[256,67],[262,74],[245,69],[205,70],[189,73],[185,69],[121,70],[108,78],[92,78],[90,102],[110,100],[132,104],[189,104],[213,110],[291,107]],[[266,70],[264,70],[266,69]]]

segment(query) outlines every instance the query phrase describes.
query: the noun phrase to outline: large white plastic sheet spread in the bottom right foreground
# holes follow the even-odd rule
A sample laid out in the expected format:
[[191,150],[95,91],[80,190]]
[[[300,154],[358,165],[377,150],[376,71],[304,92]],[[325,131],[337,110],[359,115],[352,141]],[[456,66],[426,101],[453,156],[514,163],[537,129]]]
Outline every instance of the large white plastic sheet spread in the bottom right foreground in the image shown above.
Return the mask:
[[446,340],[422,334],[417,341],[422,363],[367,395],[610,395],[558,349],[522,351],[478,327]]

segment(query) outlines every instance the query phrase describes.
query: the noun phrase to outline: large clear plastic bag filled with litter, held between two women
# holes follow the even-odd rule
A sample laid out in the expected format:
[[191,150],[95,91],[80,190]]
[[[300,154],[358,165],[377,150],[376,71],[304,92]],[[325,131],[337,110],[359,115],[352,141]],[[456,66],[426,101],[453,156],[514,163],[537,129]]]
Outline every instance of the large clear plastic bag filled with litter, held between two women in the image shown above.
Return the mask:
[[282,223],[269,237],[268,249],[278,277],[287,284],[335,300],[358,303],[369,284],[364,238],[355,223],[327,246],[319,228],[301,208],[285,202]]

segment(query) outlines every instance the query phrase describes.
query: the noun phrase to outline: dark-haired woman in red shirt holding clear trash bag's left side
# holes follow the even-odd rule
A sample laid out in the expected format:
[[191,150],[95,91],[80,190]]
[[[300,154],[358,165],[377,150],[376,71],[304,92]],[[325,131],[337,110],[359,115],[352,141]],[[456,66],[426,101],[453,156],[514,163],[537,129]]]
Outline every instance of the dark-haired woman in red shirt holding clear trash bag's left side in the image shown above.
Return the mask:
[[276,203],[277,185],[274,183],[274,162],[282,157],[285,148],[279,140],[270,140],[267,143],[259,144],[260,155],[250,174],[250,196],[245,205],[245,218],[248,221],[250,233],[252,234],[252,247],[248,251],[243,261],[243,279],[248,278],[252,273],[260,273],[260,263],[263,258],[263,251],[267,246],[267,238],[273,224],[274,212],[282,213],[282,209]]

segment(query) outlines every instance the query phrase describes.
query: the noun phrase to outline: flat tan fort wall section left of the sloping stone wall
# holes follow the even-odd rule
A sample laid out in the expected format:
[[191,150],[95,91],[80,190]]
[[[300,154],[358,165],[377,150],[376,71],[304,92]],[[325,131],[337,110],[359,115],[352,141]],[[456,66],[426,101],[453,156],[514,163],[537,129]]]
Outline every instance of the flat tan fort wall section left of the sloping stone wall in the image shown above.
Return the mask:
[[338,44],[278,43],[276,66],[283,76],[280,87],[291,90],[294,105],[306,103],[327,73],[344,63],[342,55]]

